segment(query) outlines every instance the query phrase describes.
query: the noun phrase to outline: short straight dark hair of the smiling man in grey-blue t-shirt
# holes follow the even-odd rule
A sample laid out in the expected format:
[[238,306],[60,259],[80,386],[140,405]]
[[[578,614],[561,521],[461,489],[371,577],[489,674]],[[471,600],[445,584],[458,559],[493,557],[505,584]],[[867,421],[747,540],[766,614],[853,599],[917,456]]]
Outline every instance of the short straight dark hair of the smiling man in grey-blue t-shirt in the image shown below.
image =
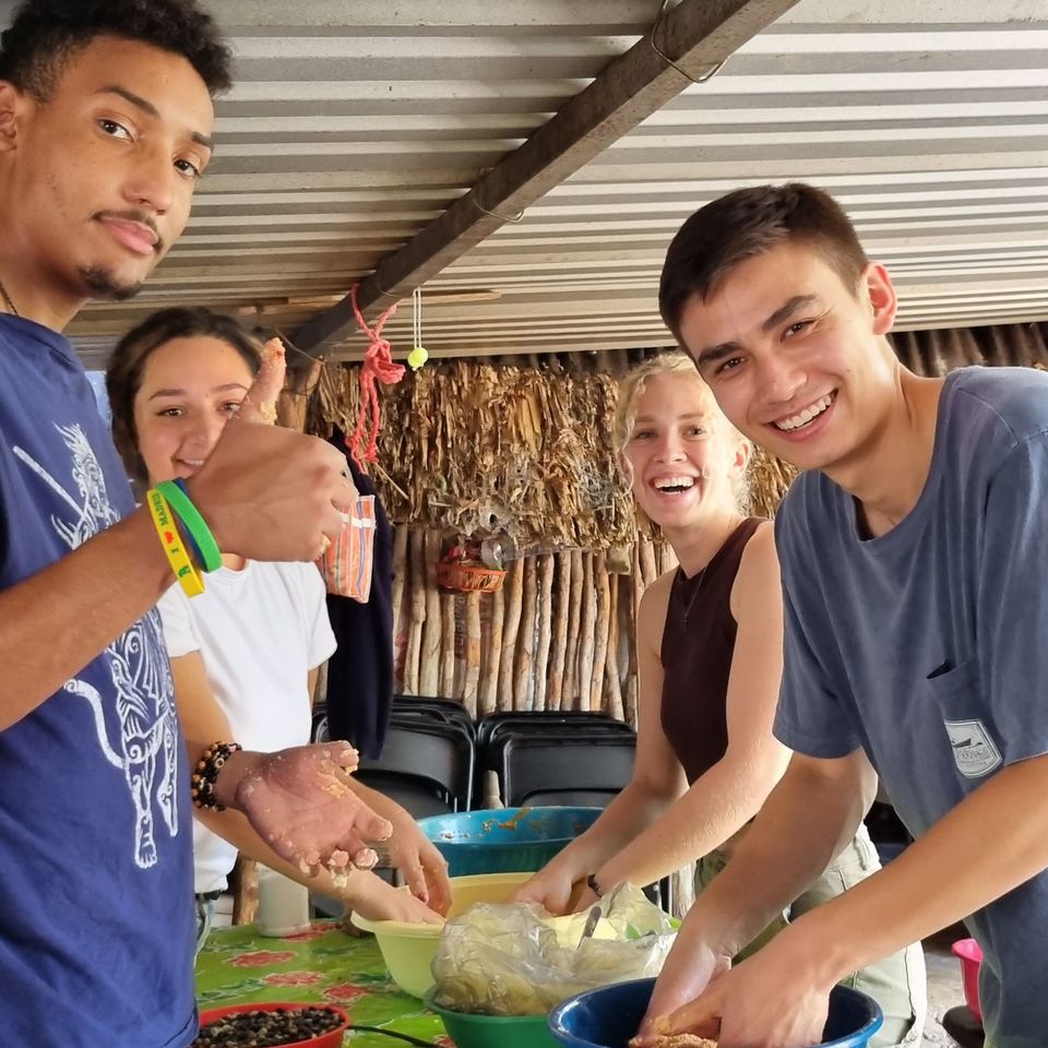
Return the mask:
[[737,189],[700,207],[677,231],[658,283],[658,311],[680,342],[688,300],[706,299],[740,262],[786,241],[821,252],[844,285],[858,290],[869,263],[841,205],[803,182]]

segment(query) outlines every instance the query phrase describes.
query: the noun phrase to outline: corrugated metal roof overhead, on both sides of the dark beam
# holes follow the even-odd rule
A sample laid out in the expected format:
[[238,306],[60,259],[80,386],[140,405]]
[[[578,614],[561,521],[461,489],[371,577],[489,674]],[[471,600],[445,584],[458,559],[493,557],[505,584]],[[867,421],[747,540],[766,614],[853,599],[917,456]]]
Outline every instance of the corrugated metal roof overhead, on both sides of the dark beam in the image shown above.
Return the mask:
[[[238,79],[215,160],[146,290],[71,329],[85,347],[174,301],[258,306],[294,331],[631,47],[659,3],[211,8]],[[668,344],[655,290],[672,233],[727,190],[785,179],[844,203],[901,287],[901,327],[1046,318],[1046,53],[1048,0],[801,0],[430,281],[424,341],[442,355]],[[386,329],[397,349],[410,312]]]

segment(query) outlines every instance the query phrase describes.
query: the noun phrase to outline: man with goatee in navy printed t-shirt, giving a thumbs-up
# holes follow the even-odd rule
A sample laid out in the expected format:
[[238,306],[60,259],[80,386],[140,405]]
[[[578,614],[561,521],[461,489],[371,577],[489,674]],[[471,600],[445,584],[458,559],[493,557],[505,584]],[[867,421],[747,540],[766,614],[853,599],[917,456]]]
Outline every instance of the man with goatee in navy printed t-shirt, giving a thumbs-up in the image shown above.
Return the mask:
[[[189,783],[152,610],[174,576],[61,331],[182,233],[228,63],[193,0],[32,0],[0,37],[4,1048],[195,1033]],[[221,549],[312,560],[355,492],[335,449],[252,424],[275,392],[250,392],[189,495]],[[235,740],[184,747],[215,741]],[[352,761],[234,752],[214,801],[286,859],[342,865],[390,830],[345,790]]]

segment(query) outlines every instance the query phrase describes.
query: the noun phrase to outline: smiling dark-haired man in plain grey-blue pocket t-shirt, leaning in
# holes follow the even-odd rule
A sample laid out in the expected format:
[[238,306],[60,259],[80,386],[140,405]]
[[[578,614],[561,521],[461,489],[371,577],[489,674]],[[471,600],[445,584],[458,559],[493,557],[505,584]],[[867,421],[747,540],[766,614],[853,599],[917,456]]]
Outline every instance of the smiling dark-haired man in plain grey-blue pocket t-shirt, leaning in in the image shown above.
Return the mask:
[[[888,272],[807,186],[692,215],[659,302],[730,421],[805,472],[775,532],[775,730],[796,755],[689,914],[645,1037],[815,1044],[837,980],[964,919],[987,1044],[1044,1046],[1048,374],[902,367]],[[725,972],[850,838],[878,774],[916,843]]]

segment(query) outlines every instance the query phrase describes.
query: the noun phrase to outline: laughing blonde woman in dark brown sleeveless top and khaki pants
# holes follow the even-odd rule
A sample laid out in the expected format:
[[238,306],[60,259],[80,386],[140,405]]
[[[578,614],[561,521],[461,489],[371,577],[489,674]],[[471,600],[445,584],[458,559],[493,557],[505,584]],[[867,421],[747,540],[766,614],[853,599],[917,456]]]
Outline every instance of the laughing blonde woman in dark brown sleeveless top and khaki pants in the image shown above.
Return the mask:
[[[727,864],[790,757],[772,735],[782,676],[782,593],[772,526],[746,511],[750,443],[680,353],[656,357],[626,378],[615,442],[638,505],[662,528],[680,567],[660,576],[641,602],[633,778],[516,895],[558,914],[568,910],[580,882],[587,886],[575,909],[622,881],[647,885],[695,859],[701,890]],[[783,921],[879,868],[860,827]],[[711,973],[701,974],[705,980]],[[884,1010],[873,1044],[919,1044],[919,945],[857,973],[851,985]]]

